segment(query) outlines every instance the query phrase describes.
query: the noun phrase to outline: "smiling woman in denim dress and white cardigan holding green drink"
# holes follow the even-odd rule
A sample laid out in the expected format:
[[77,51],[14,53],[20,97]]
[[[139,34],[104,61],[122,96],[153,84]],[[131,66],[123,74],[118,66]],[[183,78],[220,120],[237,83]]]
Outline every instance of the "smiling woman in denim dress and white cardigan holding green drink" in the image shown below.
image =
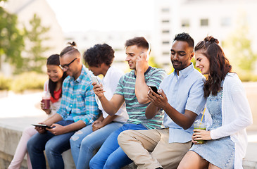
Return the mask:
[[[208,75],[203,90],[207,98],[206,117],[211,116],[211,125],[207,130],[194,130],[194,145],[178,168],[243,168],[246,127],[251,125],[252,116],[242,82],[232,73],[218,39],[206,37],[194,51],[196,67]],[[199,140],[206,142],[197,144]]]

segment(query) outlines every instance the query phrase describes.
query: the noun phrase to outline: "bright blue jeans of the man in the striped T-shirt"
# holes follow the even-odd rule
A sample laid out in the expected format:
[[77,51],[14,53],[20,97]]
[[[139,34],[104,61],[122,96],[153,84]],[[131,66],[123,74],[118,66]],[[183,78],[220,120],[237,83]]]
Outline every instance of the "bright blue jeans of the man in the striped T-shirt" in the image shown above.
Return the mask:
[[125,124],[113,132],[89,163],[90,169],[122,168],[132,163],[118,144],[118,135],[125,130],[147,130],[144,125]]

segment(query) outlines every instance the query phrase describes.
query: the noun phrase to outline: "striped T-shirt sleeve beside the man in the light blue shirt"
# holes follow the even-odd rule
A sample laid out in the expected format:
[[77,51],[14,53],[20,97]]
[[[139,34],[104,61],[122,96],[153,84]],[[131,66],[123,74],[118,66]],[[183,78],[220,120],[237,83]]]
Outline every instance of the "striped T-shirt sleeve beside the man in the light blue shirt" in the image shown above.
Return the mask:
[[165,75],[165,70],[156,68],[156,70],[153,70],[153,73],[149,76],[149,79],[146,80],[147,86],[155,86],[158,89]]

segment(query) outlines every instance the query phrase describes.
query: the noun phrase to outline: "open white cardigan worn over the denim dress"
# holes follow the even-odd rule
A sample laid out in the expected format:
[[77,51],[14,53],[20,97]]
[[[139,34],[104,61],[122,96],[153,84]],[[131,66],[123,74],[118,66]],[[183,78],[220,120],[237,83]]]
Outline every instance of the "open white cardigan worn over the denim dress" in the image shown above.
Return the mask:
[[[206,118],[211,115],[206,108]],[[234,142],[234,168],[243,168],[242,159],[246,154],[246,127],[253,123],[251,109],[246,99],[244,87],[236,73],[225,77],[222,93],[222,126],[211,130],[211,138],[230,136]],[[209,124],[210,125],[210,124]]]

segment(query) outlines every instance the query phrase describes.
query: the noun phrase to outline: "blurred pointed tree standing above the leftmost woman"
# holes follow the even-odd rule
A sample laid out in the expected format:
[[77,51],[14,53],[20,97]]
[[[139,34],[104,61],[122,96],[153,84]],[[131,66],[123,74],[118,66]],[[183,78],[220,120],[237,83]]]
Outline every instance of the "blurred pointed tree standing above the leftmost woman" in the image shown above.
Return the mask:
[[23,71],[36,71],[41,73],[42,66],[46,62],[44,52],[49,50],[49,46],[44,46],[43,42],[49,40],[46,37],[46,33],[50,30],[50,27],[44,27],[41,25],[41,19],[34,14],[30,20],[30,30],[25,29],[26,46],[29,49],[25,51],[25,64],[23,65]]

